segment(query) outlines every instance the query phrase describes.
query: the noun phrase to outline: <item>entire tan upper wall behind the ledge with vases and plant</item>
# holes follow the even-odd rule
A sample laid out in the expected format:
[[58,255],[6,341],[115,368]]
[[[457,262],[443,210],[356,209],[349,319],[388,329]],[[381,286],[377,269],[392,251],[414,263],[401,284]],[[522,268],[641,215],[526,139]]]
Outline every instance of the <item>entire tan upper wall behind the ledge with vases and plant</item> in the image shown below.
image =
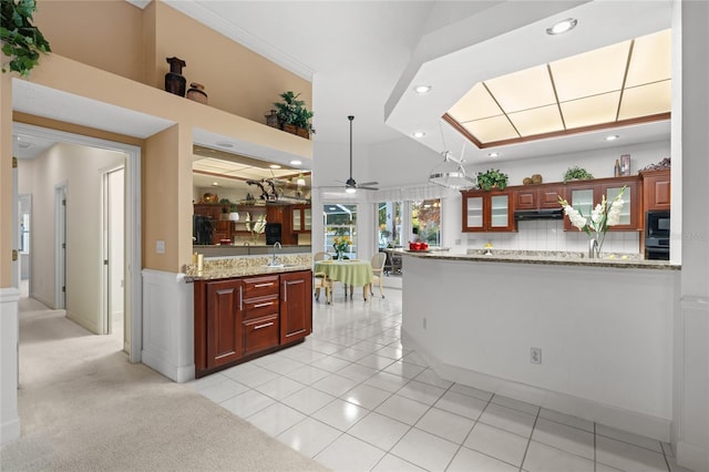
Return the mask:
[[310,82],[162,1],[141,10],[125,0],[40,0],[34,19],[53,52],[160,90],[166,58],[177,57],[187,89],[202,83],[209,106],[248,120],[265,123],[287,90],[312,106]]

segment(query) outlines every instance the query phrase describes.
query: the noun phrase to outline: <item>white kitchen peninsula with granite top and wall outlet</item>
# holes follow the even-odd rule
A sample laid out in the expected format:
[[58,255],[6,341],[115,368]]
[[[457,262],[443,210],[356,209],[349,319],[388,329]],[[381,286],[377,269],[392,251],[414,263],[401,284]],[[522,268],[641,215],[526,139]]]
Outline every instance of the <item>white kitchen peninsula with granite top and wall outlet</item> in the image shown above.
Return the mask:
[[442,378],[669,440],[679,266],[401,253],[402,342]]

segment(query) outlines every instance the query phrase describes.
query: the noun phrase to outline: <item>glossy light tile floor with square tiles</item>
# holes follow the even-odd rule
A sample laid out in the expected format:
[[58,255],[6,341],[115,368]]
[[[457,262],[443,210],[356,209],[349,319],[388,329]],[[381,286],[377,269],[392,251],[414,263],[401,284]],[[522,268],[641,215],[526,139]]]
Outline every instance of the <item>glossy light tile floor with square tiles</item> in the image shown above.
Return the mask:
[[191,384],[335,471],[685,471],[667,443],[439,378],[386,296],[314,301],[305,342]]

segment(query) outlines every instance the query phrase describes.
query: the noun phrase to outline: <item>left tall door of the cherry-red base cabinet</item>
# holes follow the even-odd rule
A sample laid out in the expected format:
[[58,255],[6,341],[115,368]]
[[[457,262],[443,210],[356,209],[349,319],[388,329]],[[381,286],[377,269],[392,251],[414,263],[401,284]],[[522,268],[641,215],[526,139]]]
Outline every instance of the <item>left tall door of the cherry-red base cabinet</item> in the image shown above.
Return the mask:
[[207,368],[218,367],[242,357],[240,280],[207,284]]

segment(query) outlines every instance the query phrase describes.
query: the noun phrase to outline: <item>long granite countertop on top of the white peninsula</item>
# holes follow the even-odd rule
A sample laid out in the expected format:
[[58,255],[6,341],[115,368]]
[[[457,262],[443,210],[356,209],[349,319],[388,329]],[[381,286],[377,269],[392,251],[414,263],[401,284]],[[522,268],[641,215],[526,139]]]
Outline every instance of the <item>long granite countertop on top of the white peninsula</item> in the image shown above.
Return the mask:
[[681,266],[668,260],[645,260],[638,254],[604,254],[597,259],[589,259],[582,252],[551,250],[503,250],[503,249],[467,249],[466,254],[454,254],[448,250],[415,252],[393,249],[411,257],[441,260],[470,260],[485,263],[542,264],[552,266],[588,266],[624,269],[662,269],[680,270]]

